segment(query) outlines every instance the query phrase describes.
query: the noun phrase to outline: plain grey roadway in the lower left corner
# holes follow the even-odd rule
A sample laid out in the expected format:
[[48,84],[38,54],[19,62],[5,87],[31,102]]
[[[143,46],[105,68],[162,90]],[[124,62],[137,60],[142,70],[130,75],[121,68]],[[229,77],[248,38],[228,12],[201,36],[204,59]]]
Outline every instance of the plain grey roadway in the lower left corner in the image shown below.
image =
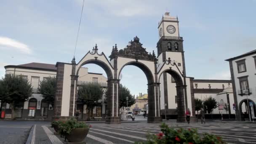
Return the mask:
[[32,125],[48,123],[40,121],[0,121],[0,144],[24,144]]

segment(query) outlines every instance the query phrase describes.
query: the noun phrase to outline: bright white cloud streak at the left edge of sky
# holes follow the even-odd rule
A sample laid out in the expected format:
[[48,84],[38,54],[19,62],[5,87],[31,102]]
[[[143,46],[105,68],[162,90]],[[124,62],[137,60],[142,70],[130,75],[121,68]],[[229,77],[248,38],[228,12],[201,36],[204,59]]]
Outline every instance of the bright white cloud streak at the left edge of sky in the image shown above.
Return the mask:
[[8,48],[9,50],[10,49],[18,50],[22,53],[27,53],[27,54],[32,53],[28,45],[8,37],[0,37],[0,48]]

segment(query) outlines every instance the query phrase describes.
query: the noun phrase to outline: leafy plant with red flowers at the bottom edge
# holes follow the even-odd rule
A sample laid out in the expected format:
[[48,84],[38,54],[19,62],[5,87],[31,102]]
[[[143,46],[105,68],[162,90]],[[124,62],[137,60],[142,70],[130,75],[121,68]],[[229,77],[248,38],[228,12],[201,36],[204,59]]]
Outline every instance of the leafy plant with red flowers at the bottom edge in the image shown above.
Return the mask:
[[201,137],[195,128],[169,128],[162,123],[161,133],[148,134],[147,141],[136,142],[136,144],[227,144],[220,136],[205,133]]

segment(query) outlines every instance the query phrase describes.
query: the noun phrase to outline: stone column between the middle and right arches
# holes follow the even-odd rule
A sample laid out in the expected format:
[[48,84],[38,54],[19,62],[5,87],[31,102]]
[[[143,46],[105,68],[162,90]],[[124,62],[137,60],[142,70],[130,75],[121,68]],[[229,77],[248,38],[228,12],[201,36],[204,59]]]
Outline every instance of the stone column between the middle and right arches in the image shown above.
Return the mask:
[[160,97],[158,94],[160,83],[148,84],[148,108],[149,114],[147,117],[147,123],[160,123],[162,118],[160,117]]

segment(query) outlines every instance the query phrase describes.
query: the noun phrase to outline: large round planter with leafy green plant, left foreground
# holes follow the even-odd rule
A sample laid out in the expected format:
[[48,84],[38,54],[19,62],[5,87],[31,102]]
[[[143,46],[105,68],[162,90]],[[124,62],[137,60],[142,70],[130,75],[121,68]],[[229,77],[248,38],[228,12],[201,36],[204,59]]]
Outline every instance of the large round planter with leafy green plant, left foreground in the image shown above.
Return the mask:
[[87,125],[84,122],[77,122],[76,119],[72,118],[67,121],[62,121],[59,125],[59,133],[65,136],[68,142],[80,143],[88,134],[91,125]]

